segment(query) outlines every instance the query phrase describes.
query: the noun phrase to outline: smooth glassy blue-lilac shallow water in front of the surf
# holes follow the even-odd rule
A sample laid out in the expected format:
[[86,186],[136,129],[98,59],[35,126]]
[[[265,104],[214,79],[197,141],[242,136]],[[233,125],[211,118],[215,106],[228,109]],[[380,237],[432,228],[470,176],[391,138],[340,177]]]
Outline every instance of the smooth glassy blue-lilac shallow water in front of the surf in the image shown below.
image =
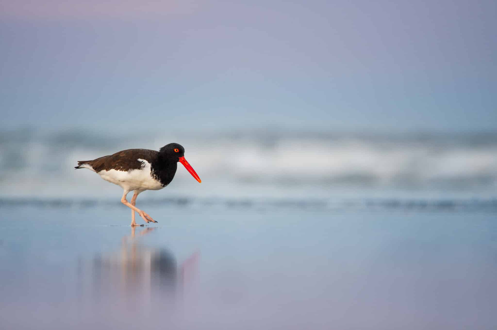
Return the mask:
[[493,207],[0,207],[2,329],[497,325]]

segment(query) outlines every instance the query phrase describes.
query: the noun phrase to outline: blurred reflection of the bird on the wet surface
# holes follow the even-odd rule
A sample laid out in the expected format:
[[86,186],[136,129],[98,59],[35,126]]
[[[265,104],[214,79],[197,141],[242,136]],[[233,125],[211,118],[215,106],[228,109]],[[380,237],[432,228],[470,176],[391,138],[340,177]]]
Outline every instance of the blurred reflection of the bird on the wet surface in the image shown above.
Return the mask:
[[[93,303],[141,302],[142,308],[147,308],[148,304],[158,301],[172,302],[187,290],[195,277],[199,253],[193,253],[178,267],[168,249],[140,243],[142,236],[157,229],[131,227],[131,235],[122,237],[117,251],[97,255],[86,267],[80,267],[80,278],[82,282],[86,281],[82,283],[83,296]],[[88,286],[90,290],[87,290]]]

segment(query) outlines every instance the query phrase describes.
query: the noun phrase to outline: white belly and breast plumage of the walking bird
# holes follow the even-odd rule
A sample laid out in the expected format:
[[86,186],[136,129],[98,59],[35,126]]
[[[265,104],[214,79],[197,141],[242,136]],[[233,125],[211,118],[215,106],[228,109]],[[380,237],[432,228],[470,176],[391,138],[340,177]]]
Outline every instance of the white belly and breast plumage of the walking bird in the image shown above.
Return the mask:
[[102,179],[117,184],[123,189],[131,190],[159,190],[164,188],[160,181],[154,179],[151,174],[150,163],[143,159],[137,159],[142,162],[141,169],[132,169],[129,171],[120,171],[115,169],[101,170],[98,175]]

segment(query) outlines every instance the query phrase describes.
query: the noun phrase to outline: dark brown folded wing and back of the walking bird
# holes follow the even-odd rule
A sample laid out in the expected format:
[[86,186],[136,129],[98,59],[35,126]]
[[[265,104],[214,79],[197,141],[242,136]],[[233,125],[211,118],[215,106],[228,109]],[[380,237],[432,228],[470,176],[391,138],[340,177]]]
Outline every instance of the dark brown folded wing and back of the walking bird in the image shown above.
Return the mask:
[[140,169],[142,162],[138,159],[146,160],[152,163],[159,154],[158,151],[148,149],[128,149],[119,151],[113,155],[103,156],[92,161],[78,162],[78,166],[88,164],[98,173],[101,170],[116,169],[120,171],[129,171],[131,169]]

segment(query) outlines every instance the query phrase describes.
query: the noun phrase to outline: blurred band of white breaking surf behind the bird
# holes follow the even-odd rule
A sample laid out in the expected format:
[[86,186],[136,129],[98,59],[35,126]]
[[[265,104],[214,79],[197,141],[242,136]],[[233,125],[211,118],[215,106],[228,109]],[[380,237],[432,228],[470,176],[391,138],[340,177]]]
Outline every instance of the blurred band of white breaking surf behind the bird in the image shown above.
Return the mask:
[[[115,191],[76,161],[178,142],[202,178],[178,166],[165,190],[191,196],[330,195],[336,191],[497,191],[497,134],[155,135],[2,134],[1,186],[9,195],[100,195]],[[6,189],[8,187],[8,189]],[[75,187],[77,189],[75,189]],[[174,187],[174,188],[171,188]],[[170,191],[173,192],[172,190]]]

